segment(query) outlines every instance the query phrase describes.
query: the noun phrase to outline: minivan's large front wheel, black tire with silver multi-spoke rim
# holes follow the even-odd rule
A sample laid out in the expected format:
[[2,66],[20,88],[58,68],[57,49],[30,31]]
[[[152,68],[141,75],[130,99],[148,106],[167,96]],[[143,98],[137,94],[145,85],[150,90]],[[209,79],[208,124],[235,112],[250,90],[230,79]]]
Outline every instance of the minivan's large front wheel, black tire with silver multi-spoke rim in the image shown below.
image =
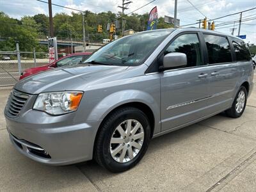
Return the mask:
[[[128,125],[131,125],[131,134],[127,129]],[[97,134],[94,148],[95,160],[110,172],[118,173],[129,170],[141,160],[147,151],[150,131],[148,118],[140,109],[125,107],[113,111],[102,122]],[[136,139],[138,137],[140,138]],[[119,152],[116,154],[117,151]]]

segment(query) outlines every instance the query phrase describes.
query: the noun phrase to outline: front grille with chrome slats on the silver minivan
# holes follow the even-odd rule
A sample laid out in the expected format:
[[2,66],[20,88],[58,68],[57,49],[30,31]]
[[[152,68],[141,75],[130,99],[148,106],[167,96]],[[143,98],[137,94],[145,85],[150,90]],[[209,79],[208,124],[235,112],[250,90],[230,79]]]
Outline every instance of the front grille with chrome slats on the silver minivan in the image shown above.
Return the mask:
[[19,115],[20,110],[23,108],[28,98],[29,95],[27,95],[26,93],[19,92],[17,90],[13,90],[10,93],[6,108],[10,117],[15,117]]

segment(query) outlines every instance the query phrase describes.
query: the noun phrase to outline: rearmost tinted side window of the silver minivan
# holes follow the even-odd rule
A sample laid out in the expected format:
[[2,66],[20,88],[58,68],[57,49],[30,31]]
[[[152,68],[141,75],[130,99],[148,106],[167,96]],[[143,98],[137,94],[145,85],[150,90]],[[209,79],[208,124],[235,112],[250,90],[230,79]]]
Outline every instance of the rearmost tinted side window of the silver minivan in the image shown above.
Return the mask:
[[250,61],[250,51],[247,47],[247,45],[239,39],[234,39],[232,41],[232,44],[234,46],[234,51],[236,53],[236,60],[237,61]]

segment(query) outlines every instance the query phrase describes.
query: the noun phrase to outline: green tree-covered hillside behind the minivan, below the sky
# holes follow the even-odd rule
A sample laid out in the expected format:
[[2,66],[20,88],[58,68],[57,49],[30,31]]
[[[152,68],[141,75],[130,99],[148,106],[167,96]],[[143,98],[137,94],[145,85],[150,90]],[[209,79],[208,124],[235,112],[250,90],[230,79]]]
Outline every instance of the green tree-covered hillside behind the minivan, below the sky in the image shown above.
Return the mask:
[[[102,12],[92,13],[84,12],[86,38],[92,42],[102,42],[103,38],[109,38],[107,31],[108,22],[121,20],[120,13]],[[134,31],[144,31],[147,28],[148,13],[138,15],[132,13],[126,15],[125,29]],[[47,38],[49,36],[49,17],[44,14],[37,14],[33,17],[24,16],[20,20],[13,19],[0,12],[0,51],[15,50],[15,42],[19,42],[20,50],[32,51],[36,47],[37,51],[47,51],[47,47],[38,45],[38,38]],[[97,32],[97,26],[102,25],[102,33]],[[56,13],[53,18],[54,36],[58,39],[82,40],[83,39],[83,15],[81,13]],[[171,24],[164,22],[163,17],[159,18],[158,29],[172,28]],[[116,35],[121,35],[122,29],[116,30]]]

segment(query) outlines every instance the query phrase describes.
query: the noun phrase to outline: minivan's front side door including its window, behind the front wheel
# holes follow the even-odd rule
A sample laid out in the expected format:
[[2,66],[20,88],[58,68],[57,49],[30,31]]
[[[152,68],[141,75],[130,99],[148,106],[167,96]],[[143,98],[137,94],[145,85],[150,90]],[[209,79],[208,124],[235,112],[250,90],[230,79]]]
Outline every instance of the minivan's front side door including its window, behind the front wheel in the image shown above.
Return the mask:
[[197,33],[186,33],[173,40],[164,54],[182,52],[183,68],[165,70],[161,76],[161,131],[192,122],[207,113],[208,75]]

